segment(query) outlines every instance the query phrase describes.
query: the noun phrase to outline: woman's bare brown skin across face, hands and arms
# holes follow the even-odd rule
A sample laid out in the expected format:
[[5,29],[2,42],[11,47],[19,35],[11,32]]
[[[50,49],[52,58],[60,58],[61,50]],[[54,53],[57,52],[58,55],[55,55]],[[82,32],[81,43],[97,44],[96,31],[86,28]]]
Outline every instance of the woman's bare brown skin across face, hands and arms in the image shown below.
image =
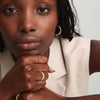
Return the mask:
[[[0,82],[1,100],[15,100],[15,95],[20,92],[19,100],[100,98],[100,96],[66,98],[45,88],[48,72],[54,72],[47,62],[49,46],[53,41],[57,23],[56,0],[0,1],[0,33],[6,48],[15,59],[15,65]],[[98,67],[100,56],[97,57],[99,44],[97,41],[91,42],[90,74],[100,71]],[[44,81],[40,81],[42,78],[40,71],[45,74]]]

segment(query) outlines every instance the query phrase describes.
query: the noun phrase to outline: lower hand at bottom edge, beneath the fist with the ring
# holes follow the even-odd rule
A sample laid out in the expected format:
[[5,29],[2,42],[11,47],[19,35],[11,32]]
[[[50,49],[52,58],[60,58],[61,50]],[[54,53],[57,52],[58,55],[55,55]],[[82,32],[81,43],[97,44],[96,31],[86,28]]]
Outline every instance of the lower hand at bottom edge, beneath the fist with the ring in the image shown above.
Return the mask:
[[36,92],[27,92],[21,94],[18,100],[61,100],[62,98],[62,96],[44,87]]

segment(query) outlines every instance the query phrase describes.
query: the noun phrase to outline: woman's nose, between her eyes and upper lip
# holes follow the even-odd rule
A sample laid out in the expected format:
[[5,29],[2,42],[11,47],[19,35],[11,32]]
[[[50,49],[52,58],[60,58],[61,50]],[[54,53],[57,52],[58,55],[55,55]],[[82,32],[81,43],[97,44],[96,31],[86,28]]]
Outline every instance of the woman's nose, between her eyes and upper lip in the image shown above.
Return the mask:
[[30,15],[30,13],[26,13],[20,18],[18,29],[22,33],[29,33],[36,31],[35,18],[33,18],[32,15]]

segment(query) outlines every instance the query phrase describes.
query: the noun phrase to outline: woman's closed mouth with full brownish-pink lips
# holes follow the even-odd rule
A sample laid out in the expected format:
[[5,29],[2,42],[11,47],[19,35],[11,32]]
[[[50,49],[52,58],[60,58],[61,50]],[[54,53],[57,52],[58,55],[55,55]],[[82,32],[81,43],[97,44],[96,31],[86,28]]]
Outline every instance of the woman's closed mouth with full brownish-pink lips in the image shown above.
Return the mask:
[[15,42],[16,48],[27,51],[34,50],[41,45],[40,38],[37,37],[24,37]]

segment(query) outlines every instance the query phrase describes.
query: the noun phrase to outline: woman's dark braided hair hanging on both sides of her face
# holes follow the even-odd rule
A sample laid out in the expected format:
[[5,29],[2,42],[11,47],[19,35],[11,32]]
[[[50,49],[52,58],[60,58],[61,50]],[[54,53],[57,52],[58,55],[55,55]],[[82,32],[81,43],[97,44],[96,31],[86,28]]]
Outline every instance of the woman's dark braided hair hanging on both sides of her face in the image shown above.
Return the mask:
[[[76,16],[74,15],[69,0],[57,0],[58,20],[62,28],[62,37],[72,40],[73,34],[80,36],[75,30]],[[4,51],[4,43],[0,34],[0,52]]]

